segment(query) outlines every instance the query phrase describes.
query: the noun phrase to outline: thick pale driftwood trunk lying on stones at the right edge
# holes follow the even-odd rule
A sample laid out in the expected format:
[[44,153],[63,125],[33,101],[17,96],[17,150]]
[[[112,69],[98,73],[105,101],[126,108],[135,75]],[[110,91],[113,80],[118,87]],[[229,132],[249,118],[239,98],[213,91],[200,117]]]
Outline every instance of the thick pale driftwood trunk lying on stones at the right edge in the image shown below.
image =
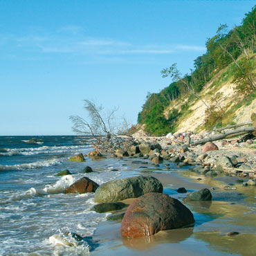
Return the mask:
[[222,140],[223,138],[227,138],[227,137],[230,138],[231,135],[232,137],[235,137],[241,133],[246,134],[252,131],[256,131],[256,127],[253,126],[253,127],[244,127],[244,128],[234,129],[232,131],[227,131],[226,133],[223,133],[223,134],[214,134],[208,138],[192,141],[191,145],[196,146],[196,145],[208,143],[208,141]]

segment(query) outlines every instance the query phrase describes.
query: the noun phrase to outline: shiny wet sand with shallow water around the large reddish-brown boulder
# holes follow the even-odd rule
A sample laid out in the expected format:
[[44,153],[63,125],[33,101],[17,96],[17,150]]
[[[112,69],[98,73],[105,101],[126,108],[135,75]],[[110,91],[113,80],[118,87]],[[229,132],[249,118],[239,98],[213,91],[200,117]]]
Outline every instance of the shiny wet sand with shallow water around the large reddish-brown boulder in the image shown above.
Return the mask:
[[[211,179],[185,170],[155,170],[143,174],[159,179],[164,193],[181,201],[186,194],[176,192],[180,187],[188,192],[209,188],[213,199],[183,201],[194,214],[194,227],[161,231],[152,237],[123,239],[120,237],[120,221],[103,221],[93,235],[99,246],[91,255],[256,255],[255,187],[242,187],[241,183],[236,183],[236,190],[225,190],[223,187],[236,182],[237,178]],[[234,231],[239,235],[227,235]]]

